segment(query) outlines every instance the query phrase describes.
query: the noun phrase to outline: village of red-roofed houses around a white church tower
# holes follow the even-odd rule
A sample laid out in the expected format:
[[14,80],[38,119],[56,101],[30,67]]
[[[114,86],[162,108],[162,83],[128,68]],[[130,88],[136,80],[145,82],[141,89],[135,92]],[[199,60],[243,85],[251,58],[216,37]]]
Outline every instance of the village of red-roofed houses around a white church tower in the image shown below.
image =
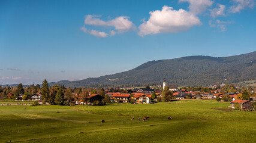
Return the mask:
[[[227,87],[227,91],[224,92],[224,89]],[[101,88],[100,91],[94,89],[82,92],[82,89],[80,89],[80,92],[77,92],[79,91],[78,88],[73,89],[74,92],[71,93],[68,101],[70,102],[70,105],[105,105],[106,103],[155,104],[161,101],[216,100],[219,102],[230,102],[230,107],[233,109],[255,110],[256,91],[254,90],[243,89],[243,91],[239,91],[238,86],[225,85],[224,83],[221,85],[214,85],[210,88],[201,87],[199,91],[195,91],[195,89],[192,89],[191,91],[189,88],[191,87],[178,88],[177,85],[167,85],[165,79],[162,85],[159,86],[123,88],[116,92],[115,90],[113,91],[113,89],[105,91],[103,88]],[[72,89],[70,90],[72,91]],[[38,104],[50,104],[50,102],[44,100],[41,92],[29,96],[25,95],[26,98],[24,98],[24,95],[25,94],[19,94],[16,97],[16,100],[38,101]],[[67,94],[65,99],[67,100]],[[57,104],[57,102],[52,102],[52,104]]]

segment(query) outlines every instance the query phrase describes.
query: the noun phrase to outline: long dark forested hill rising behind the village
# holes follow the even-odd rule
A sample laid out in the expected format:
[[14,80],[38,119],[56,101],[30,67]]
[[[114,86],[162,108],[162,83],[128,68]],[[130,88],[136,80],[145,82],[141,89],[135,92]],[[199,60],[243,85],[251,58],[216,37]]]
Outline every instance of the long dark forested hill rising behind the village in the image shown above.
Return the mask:
[[171,60],[148,61],[122,73],[77,81],[61,80],[50,85],[78,87],[84,85],[125,85],[134,83],[178,86],[208,86],[217,83],[239,83],[256,79],[256,51],[231,57],[189,56]]

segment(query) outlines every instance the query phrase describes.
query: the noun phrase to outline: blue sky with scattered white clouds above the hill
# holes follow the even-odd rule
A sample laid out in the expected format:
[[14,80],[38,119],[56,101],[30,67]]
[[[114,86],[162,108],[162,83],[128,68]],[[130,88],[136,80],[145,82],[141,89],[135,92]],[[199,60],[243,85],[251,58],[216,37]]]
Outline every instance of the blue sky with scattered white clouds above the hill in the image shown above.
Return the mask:
[[255,51],[252,0],[0,1],[0,84],[80,80],[151,60]]

